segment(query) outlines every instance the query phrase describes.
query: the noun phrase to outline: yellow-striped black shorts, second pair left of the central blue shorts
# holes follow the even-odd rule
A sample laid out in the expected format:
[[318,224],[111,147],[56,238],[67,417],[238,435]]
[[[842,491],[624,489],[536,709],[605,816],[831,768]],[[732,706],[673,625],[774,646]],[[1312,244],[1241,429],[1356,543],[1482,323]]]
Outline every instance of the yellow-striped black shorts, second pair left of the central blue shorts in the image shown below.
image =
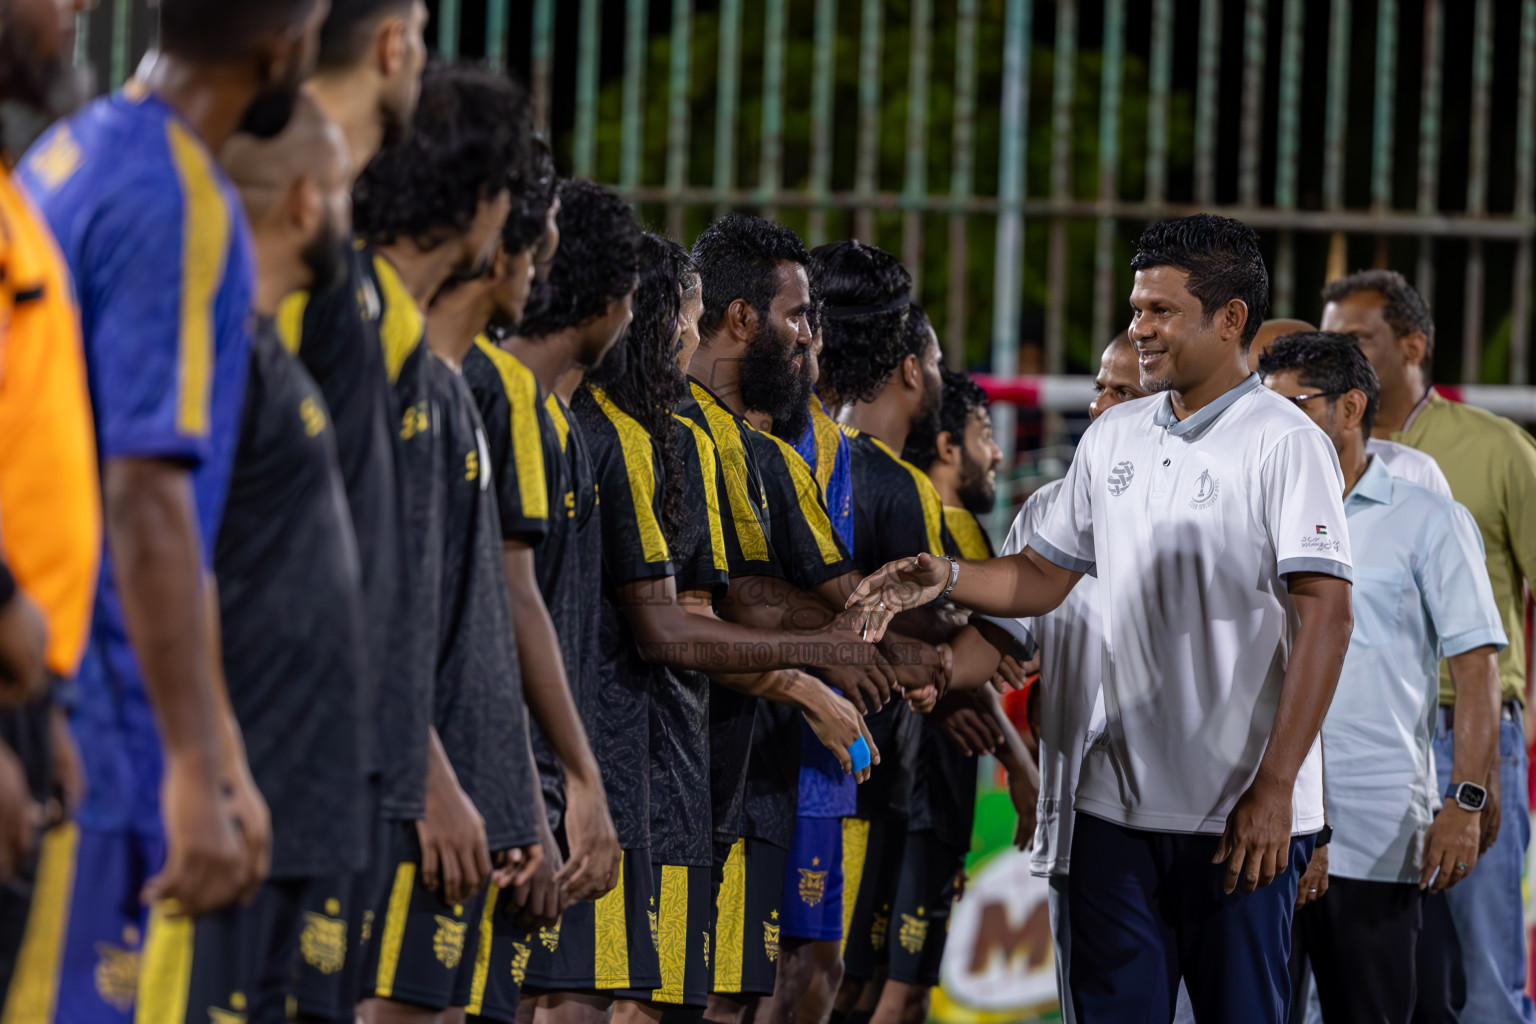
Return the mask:
[[656,910],[651,940],[660,960],[662,984],[656,989],[621,989],[617,999],[642,999],[667,1006],[699,1007],[710,1001],[710,946],[714,907],[710,867],[654,864]]

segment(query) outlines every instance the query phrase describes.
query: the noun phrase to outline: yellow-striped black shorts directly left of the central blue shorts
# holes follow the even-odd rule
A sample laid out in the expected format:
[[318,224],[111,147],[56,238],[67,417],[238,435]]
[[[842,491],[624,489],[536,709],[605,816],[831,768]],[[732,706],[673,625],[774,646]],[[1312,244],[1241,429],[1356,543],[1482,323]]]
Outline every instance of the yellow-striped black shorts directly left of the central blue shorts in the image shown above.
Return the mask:
[[779,909],[788,851],[736,840],[714,904],[714,981],[720,995],[773,995],[779,979]]

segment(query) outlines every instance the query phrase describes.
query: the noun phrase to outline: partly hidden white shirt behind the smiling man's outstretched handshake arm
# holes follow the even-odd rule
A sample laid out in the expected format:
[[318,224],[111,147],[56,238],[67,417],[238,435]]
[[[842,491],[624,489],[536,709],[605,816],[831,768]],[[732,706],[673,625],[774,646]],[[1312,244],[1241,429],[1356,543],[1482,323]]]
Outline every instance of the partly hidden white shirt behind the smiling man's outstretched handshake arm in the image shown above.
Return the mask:
[[[1003,554],[1025,550],[1060,490],[1061,481],[1052,481],[1029,496],[1008,531]],[[1072,792],[1083,751],[1104,728],[1098,580],[1084,576],[1055,611],[1018,623],[1040,648],[1040,803],[1029,870],[1066,875],[1072,869]]]

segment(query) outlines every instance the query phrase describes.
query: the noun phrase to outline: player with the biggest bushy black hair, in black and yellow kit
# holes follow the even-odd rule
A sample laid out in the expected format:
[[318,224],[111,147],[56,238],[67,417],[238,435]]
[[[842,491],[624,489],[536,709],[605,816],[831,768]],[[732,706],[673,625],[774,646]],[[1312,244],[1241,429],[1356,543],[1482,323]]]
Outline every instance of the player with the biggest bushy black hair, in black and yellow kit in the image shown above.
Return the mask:
[[[527,163],[505,78],[429,69],[413,134],[381,154],[353,193],[358,229],[378,250],[382,322],[422,338],[422,309],[453,275],[485,272]],[[398,319],[396,319],[398,318]],[[459,375],[472,339],[429,339],[401,364],[402,447],[433,433],[424,459],[402,459],[407,534],[427,565],[424,600],[438,623],[424,817],[387,852],[390,886],[375,918],[364,989],[372,1019],[432,1019],[470,999],[484,883],[525,884],[547,829],[528,748],[501,524],[485,436]]]

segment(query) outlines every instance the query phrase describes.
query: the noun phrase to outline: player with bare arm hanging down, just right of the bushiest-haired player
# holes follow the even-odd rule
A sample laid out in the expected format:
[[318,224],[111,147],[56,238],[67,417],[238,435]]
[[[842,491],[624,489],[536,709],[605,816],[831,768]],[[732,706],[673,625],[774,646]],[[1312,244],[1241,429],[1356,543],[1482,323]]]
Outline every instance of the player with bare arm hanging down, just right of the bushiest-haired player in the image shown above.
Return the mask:
[[[542,161],[541,161],[542,163]],[[502,247],[487,273],[444,289],[432,306],[427,332],[433,338],[475,336],[487,325],[504,333],[525,310],[533,282],[535,249],[544,236],[545,213],[553,200],[553,175],[535,173],[539,181],[519,181],[519,209],[502,232]],[[528,195],[533,184],[533,195]],[[524,207],[533,209],[524,209]],[[576,206],[573,215],[587,212]],[[513,229],[518,230],[513,235]],[[622,258],[622,243],[611,233],[607,244],[614,255],[608,290],[633,286],[633,255]],[[633,246],[630,247],[633,253]],[[622,332],[624,295],[602,295],[610,319],[607,335]],[[608,318],[608,309],[613,316]],[[601,353],[599,353],[601,358]],[[581,900],[591,900],[613,887],[619,869],[619,844],[608,814],[608,800],[596,758],[587,743],[565,669],[565,656],[545,606],[542,588],[553,593],[561,548],[567,543],[571,520],[565,516],[567,473],[561,441],[539,382],[522,362],[481,335],[464,356],[464,378],[475,393],[487,431],[487,447],[501,511],[502,563],[513,605],[513,625],[524,676],[524,697],[539,731],[558,757],[554,778],[541,786],[554,792],[564,814],[551,814],[551,829],[564,826],[571,860],[556,875],[551,867],[559,851],[548,851],[545,866],[536,872],[530,890],[505,890],[492,884],[481,918],[481,955],[472,983],[467,1012],[476,1019],[510,1022],[516,1018],[519,984],[531,955],[530,929],[554,927],[567,904],[567,889]],[[536,551],[548,547],[544,573]],[[579,666],[579,663],[578,663]],[[564,785],[561,780],[564,778]],[[553,838],[553,837],[551,837]]]

